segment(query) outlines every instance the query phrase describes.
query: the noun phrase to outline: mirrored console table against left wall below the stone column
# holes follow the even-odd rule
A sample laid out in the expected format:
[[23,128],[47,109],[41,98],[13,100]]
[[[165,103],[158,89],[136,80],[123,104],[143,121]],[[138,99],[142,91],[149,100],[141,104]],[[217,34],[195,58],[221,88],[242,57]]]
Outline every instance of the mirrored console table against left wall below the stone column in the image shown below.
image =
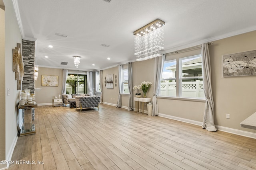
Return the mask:
[[37,106],[36,102],[31,104],[18,105],[18,109],[22,109],[22,127],[20,129],[20,136],[32,135],[36,133],[34,118],[35,118],[35,107]]

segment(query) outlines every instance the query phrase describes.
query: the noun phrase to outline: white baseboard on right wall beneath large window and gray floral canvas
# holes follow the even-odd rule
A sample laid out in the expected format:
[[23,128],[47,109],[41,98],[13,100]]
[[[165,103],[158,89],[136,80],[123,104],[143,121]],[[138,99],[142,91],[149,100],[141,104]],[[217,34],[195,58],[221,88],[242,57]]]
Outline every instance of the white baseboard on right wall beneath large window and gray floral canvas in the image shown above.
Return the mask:
[[[182,122],[186,122],[186,123],[190,123],[190,124],[198,125],[198,126],[202,127],[202,122],[200,122],[200,121],[194,121],[194,120],[185,119],[185,118],[182,118],[182,117],[171,116],[171,115],[166,115],[166,114],[162,114],[162,113],[159,113],[158,116],[165,117],[165,118],[168,118],[168,119],[177,120],[177,121],[182,121]],[[232,133],[232,134],[235,134],[235,135],[240,135],[240,136],[250,137],[250,138],[256,139],[256,133],[252,133],[252,132],[248,132],[248,131],[241,131],[241,130],[238,130],[238,129],[232,129],[232,128],[229,128],[229,127],[223,127],[223,126],[218,126],[218,125],[215,125],[215,126],[218,129],[218,131],[224,131],[224,132]]]

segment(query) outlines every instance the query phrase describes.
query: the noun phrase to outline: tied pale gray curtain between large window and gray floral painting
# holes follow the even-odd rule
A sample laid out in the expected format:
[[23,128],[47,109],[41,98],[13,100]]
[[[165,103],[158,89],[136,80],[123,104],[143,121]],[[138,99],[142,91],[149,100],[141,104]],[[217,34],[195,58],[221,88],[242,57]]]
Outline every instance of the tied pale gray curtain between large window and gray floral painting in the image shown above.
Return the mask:
[[202,44],[202,67],[204,94],[206,97],[202,127],[208,131],[217,131],[214,124],[214,102],[212,98],[211,66],[208,43]]

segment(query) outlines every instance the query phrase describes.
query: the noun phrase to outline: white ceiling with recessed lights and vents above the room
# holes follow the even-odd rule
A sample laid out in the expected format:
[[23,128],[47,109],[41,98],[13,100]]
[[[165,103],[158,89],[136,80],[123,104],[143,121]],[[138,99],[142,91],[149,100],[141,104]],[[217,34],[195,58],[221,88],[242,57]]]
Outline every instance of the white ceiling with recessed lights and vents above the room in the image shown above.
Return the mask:
[[[37,39],[36,64],[71,70],[100,70],[134,61],[133,32],[157,18],[166,23],[164,53],[256,30],[256,0],[14,0],[15,4],[23,39]],[[74,55],[81,56],[78,68]],[[68,64],[60,65],[62,61]]]

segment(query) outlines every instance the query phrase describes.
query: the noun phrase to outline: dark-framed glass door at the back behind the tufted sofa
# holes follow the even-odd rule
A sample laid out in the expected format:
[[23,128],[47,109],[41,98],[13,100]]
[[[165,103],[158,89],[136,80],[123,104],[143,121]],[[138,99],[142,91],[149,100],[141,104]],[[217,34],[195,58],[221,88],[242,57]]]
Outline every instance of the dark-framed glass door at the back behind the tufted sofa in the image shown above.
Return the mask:
[[68,74],[66,92],[67,94],[86,94],[87,76],[83,74]]

